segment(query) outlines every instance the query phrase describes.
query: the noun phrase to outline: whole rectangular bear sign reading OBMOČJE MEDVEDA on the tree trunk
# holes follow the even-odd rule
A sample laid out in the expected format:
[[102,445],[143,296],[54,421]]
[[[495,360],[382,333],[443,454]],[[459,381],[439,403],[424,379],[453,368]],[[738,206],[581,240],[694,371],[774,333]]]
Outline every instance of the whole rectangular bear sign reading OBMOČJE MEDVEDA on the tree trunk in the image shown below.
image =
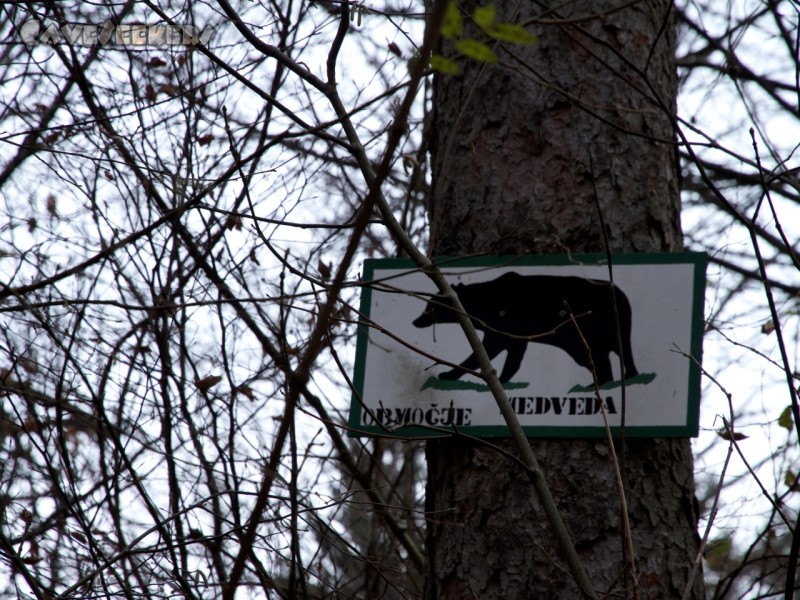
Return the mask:
[[[436,259],[529,437],[696,436],[706,255]],[[506,437],[456,314],[408,259],[367,260],[351,435]],[[599,388],[599,393],[597,391]]]

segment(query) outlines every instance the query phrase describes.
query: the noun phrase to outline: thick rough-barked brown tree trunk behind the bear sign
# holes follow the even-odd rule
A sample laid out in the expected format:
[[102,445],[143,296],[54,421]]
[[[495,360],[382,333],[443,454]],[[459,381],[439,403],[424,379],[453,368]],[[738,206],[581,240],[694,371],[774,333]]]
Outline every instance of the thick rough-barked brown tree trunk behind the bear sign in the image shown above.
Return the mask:
[[[595,187],[613,251],[681,249],[669,3],[619,4],[498,3],[540,42],[438,77],[432,254],[602,252]],[[633,597],[605,441],[534,450],[598,593]],[[628,441],[624,467],[639,597],[680,598],[699,542],[689,440]],[[519,467],[450,440],[428,468],[430,599],[580,597]]]

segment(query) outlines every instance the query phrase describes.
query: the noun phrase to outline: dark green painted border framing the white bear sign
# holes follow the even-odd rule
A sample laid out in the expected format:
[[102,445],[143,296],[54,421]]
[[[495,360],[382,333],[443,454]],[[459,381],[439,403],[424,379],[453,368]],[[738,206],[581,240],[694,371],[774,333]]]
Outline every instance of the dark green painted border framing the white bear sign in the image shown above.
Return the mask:
[[[449,268],[472,268],[472,267],[508,267],[518,266],[573,266],[590,265],[606,266],[608,264],[605,254],[546,254],[546,255],[524,255],[524,256],[476,256],[476,257],[435,257],[434,262],[443,271]],[[641,254],[612,254],[612,269],[619,265],[668,265],[668,264],[690,264],[694,266],[694,281],[692,295],[692,324],[691,324],[691,355],[696,360],[692,360],[689,365],[688,381],[688,402],[686,413],[686,423],[680,426],[663,427],[625,427],[627,437],[636,438],[661,438],[661,437],[697,437],[700,419],[700,363],[703,352],[703,310],[705,302],[705,282],[706,265],[708,256],[704,252],[675,252],[675,253],[641,253]],[[369,309],[372,305],[372,287],[374,273],[376,269],[396,269],[398,271],[419,271],[414,262],[409,258],[385,258],[367,259],[364,261],[364,272],[362,275],[363,288],[361,292],[361,314],[369,318]],[[362,436],[381,436],[395,438],[430,438],[447,437],[453,434],[462,433],[473,437],[509,437],[508,427],[505,425],[470,425],[454,428],[423,428],[419,425],[402,426],[387,429],[381,426],[361,425],[361,415],[363,407],[359,397],[364,391],[364,376],[367,355],[367,338],[369,326],[361,321],[358,324],[358,334],[356,341],[356,362],[353,376],[355,388],[350,403],[350,415],[348,419],[348,435],[350,437]],[[689,359],[687,359],[689,360]],[[620,434],[621,427],[611,427],[614,435]],[[599,438],[605,437],[606,430],[602,426],[598,427],[555,427],[548,426],[524,426],[525,435],[532,438]]]

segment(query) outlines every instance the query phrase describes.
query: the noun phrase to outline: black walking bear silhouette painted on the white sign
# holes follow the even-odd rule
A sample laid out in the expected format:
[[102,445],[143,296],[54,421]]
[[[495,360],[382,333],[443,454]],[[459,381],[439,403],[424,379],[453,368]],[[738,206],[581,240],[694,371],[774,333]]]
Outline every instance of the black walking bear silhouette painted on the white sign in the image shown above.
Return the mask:
[[[509,272],[484,283],[453,286],[474,327],[484,332],[483,345],[489,358],[508,351],[500,381],[505,383],[519,370],[528,343],[549,344],[566,351],[580,366],[589,368],[589,356],[570,322],[564,300],[575,316],[592,351],[599,383],[613,379],[609,354],[619,354],[610,283],[580,277],[520,275]],[[638,374],[631,350],[631,306],[618,287],[613,288],[619,314],[619,330],[625,366],[624,378]],[[414,320],[416,327],[455,323],[456,315],[447,299],[433,296],[425,311]],[[458,379],[466,370],[478,368],[475,354],[439,375]]]

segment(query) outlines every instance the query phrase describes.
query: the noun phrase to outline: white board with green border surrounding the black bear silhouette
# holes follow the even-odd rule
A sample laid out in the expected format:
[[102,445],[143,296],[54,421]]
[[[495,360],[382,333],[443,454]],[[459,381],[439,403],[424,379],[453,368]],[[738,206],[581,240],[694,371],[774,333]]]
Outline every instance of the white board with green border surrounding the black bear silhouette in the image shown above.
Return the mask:
[[[558,264],[542,264],[544,261]],[[600,256],[529,257],[509,262],[495,257],[440,264],[451,284],[492,281],[508,272],[609,280],[605,257]],[[641,375],[655,375],[649,383],[625,386],[626,434],[697,435],[699,369],[695,361],[700,360],[705,255],[619,255],[612,257],[612,262],[614,282],[631,305],[636,368]],[[430,279],[410,261],[391,259],[367,261],[364,279],[375,283],[362,298],[361,312],[372,326],[362,326],[359,332],[356,394],[350,415],[350,427],[357,430],[354,433],[440,435],[452,432],[455,426],[472,435],[507,435],[488,389],[425,387],[431,377],[451,367],[437,364],[408,346],[455,364],[472,353],[457,323],[440,322],[427,328],[412,324],[430,296],[437,293]],[[408,346],[381,330],[391,332]],[[505,358],[503,351],[492,361],[498,373]],[[617,380],[619,359],[614,352],[610,358]],[[471,375],[459,381],[484,383]],[[564,350],[530,342],[510,383],[528,384],[507,388],[506,394],[529,436],[604,435],[593,388],[571,391],[576,385],[592,385],[592,375]],[[600,394],[609,424],[619,426],[621,387],[601,389]],[[455,411],[448,412],[449,408]]]

